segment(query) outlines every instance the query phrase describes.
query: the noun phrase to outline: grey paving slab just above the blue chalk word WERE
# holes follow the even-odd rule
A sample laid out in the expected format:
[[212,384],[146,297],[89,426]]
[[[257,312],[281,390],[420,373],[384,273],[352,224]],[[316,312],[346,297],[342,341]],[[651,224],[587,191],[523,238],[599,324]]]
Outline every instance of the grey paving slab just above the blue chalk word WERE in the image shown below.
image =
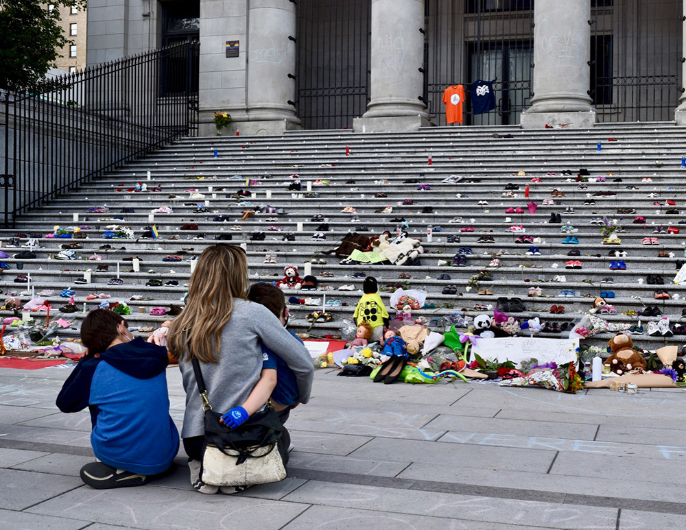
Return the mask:
[[443,414],[429,422],[425,429],[445,431],[469,431],[495,433],[510,436],[510,433],[529,436],[560,437],[569,439],[593,439],[598,426],[595,424],[579,425],[576,423],[541,422],[532,418],[528,422],[507,420],[506,418],[471,418]]

